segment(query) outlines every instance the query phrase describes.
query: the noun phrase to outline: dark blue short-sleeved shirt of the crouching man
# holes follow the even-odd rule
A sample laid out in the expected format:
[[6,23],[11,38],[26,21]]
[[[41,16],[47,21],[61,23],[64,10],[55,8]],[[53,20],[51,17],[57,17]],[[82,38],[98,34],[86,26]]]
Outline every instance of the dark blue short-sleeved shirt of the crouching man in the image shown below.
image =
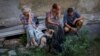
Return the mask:
[[64,24],[67,23],[68,25],[73,25],[73,21],[80,17],[80,14],[76,11],[73,12],[72,16],[68,16],[67,13],[64,13],[63,22]]

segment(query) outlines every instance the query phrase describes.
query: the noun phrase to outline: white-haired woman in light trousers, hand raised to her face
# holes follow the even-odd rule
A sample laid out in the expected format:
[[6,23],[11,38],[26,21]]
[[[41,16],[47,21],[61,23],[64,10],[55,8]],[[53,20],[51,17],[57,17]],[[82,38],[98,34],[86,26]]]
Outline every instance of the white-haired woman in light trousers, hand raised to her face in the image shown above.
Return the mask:
[[34,14],[31,12],[31,9],[28,7],[23,7],[21,21],[24,25],[24,29],[27,34],[27,45],[29,46],[43,46],[46,43],[46,38],[40,29],[38,29],[38,25],[36,25],[36,21],[34,18]]

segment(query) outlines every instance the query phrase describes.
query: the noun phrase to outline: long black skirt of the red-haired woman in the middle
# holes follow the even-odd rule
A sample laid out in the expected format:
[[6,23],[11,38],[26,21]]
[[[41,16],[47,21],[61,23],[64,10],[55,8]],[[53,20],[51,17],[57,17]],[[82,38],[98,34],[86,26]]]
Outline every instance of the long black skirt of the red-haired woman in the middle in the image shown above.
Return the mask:
[[59,25],[48,25],[48,29],[53,29],[55,32],[53,34],[52,40],[50,45],[57,50],[58,52],[62,52],[62,46],[61,44],[64,42],[64,31],[63,28]]

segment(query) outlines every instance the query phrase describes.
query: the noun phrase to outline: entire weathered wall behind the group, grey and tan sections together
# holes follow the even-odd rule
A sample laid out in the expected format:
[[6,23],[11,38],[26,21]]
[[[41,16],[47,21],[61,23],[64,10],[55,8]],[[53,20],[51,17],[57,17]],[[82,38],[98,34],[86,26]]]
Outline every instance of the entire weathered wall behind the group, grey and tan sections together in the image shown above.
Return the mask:
[[[21,5],[29,5],[35,15],[45,15],[53,3],[59,3],[62,13],[73,7],[82,14],[100,13],[100,0],[0,0],[0,26],[19,24]],[[90,17],[90,16],[89,16]]]

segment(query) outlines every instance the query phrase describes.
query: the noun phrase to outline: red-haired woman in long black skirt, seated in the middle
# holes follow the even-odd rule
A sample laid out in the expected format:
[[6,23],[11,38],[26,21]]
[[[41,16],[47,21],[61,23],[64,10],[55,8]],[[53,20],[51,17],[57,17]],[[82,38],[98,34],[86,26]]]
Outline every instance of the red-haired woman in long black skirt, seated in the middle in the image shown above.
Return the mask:
[[[59,21],[61,18],[60,14],[61,14],[60,6],[54,3],[50,12],[47,12],[46,20],[45,20],[46,27],[48,29],[53,29],[55,31],[53,39],[54,39],[54,42],[59,43],[59,45],[63,43],[63,38],[64,38],[63,28],[61,27],[61,23]],[[56,43],[54,45],[56,45]],[[55,49],[57,48],[58,47],[56,46]]]

